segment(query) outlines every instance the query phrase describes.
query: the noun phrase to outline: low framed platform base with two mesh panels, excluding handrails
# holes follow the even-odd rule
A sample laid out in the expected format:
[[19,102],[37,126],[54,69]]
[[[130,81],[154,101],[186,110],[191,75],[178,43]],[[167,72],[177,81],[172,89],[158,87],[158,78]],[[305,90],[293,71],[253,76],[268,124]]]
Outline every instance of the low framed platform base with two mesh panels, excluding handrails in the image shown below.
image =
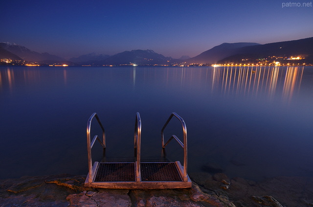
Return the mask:
[[109,189],[156,189],[191,187],[191,180],[182,180],[183,166],[177,162],[144,162],[140,166],[140,181],[136,181],[136,163],[98,163],[93,165],[92,181],[89,175],[85,187]]

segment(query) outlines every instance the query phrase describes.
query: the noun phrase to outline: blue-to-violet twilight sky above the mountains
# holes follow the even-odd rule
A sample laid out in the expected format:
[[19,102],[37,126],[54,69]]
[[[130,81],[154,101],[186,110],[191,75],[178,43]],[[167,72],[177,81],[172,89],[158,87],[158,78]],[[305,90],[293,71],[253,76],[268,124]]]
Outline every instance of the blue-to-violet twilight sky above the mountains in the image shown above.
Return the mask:
[[[286,6],[290,2],[301,7]],[[223,42],[264,44],[313,37],[310,2],[3,0],[0,42],[66,58],[133,49],[194,57]]]

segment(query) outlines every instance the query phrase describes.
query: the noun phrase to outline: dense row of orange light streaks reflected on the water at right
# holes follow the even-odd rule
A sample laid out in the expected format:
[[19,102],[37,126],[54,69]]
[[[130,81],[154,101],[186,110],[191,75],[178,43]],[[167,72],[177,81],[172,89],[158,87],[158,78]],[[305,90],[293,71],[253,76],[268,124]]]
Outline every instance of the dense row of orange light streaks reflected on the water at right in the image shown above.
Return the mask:
[[[300,87],[303,67],[213,67],[212,92],[221,91],[225,95],[242,94],[257,97],[260,92],[272,99],[283,85],[282,97],[290,101]],[[281,84],[279,84],[281,83]]]

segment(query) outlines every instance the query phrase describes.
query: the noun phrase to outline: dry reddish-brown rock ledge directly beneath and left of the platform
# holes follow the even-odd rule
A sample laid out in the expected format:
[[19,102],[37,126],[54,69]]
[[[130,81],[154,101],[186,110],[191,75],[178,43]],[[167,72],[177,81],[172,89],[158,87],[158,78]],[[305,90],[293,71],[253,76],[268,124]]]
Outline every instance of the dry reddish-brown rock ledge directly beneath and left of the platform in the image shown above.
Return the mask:
[[[211,176],[212,177],[212,176]],[[84,188],[85,176],[43,176],[0,182],[0,207],[235,207],[225,196],[186,189]]]

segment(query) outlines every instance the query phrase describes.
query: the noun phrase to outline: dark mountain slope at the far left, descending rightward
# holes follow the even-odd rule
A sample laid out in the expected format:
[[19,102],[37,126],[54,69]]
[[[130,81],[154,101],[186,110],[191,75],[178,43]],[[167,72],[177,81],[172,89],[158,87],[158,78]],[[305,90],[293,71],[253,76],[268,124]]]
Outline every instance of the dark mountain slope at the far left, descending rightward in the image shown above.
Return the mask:
[[50,55],[49,53],[38,53],[26,47],[23,47],[21,45],[9,43],[9,42],[1,42],[0,47],[19,56],[25,61],[30,61],[30,62],[43,62],[45,60],[65,61],[65,59],[60,58],[58,56]]

